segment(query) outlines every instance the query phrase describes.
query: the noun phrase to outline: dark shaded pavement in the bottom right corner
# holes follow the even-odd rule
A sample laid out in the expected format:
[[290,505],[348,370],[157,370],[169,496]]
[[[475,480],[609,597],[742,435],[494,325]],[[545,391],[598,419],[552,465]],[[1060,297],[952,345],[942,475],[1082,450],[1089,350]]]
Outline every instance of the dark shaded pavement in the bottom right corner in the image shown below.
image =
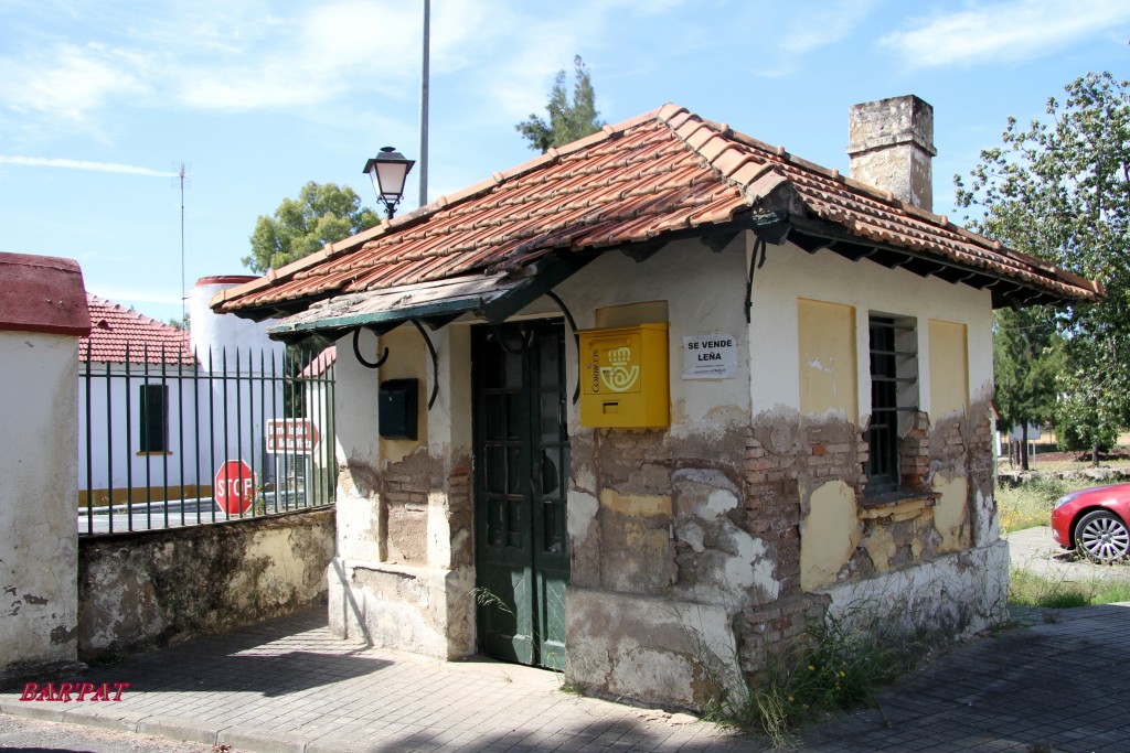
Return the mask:
[[1130,604],[1050,614],[912,673],[879,708],[808,730],[803,750],[1130,751]]

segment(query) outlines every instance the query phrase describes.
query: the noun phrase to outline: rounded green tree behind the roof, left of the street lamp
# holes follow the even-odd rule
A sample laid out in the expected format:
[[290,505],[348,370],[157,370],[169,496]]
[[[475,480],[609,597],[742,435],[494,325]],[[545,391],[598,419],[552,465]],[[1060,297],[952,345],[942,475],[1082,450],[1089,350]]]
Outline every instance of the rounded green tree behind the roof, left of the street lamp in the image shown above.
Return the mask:
[[251,255],[243,257],[243,265],[260,273],[278,269],[377,222],[376,212],[362,207],[349,186],[311,181],[297,201],[284,199],[273,217],[259,216],[250,238]]

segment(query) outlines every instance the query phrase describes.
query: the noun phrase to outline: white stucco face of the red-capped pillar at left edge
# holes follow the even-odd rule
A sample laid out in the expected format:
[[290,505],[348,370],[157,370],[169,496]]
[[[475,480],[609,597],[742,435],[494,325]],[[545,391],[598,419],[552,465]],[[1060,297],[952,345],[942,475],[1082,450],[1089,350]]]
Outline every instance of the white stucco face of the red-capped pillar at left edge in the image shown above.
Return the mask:
[[78,340],[0,332],[0,364],[2,678],[76,657]]

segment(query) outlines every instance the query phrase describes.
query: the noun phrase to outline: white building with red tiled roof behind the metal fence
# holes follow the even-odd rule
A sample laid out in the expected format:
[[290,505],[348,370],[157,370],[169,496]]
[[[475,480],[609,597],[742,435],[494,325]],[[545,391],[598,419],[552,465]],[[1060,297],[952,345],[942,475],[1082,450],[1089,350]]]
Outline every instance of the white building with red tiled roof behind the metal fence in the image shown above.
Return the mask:
[[285,345],[267,338],[267,324],[208,308],[219,290],[253,279],[198,280],[191,331],[87,294],[92,330],[79,341],[80,507],[208,498],[227,458],[273,480],[263,437],[267,421],[282,414]]

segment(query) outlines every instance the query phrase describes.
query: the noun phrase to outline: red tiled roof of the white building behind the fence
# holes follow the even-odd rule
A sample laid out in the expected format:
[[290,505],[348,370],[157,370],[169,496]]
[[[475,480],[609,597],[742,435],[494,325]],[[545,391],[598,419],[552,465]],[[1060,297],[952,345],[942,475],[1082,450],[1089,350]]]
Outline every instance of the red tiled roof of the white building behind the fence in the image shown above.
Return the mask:
[[162,324],[89,292],[86,298],[90,336],[79,339],[80,361],[124,364],[128,347],[130,364],[195,365],[185,330]]

